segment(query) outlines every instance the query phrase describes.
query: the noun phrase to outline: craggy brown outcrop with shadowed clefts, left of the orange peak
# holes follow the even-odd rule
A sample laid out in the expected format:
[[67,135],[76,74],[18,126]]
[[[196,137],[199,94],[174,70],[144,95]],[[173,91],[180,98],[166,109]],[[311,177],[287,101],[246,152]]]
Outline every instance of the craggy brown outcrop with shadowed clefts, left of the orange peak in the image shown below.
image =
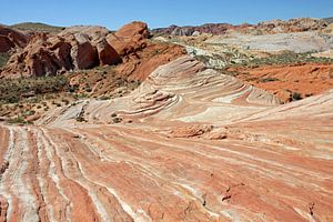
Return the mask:
[[57,36],[36,34],[24,49],[11,56],[1,77],[40,77],[117,64],[121,58],[107,42],[105,36],[105,30],[91,27],[70,28]]

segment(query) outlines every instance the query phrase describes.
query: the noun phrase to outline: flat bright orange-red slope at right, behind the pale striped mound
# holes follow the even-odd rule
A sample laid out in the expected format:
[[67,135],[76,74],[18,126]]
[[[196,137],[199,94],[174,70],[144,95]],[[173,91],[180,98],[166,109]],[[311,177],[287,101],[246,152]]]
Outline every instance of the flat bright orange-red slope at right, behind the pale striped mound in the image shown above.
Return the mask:
[[305,98],[333,88],[333,64],[301,63],[230,70],[238,72],[239,79],[274,93],[284,102],[291,101],[294,92]]

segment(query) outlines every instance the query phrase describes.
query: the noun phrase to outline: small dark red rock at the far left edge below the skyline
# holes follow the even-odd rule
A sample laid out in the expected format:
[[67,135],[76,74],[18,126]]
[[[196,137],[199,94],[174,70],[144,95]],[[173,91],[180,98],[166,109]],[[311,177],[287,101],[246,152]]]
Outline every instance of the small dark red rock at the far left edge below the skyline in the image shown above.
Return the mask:
[[0,52],[8,52],[18,47],[23,48],[29,42],[29,37],[4,26],[0,26]]

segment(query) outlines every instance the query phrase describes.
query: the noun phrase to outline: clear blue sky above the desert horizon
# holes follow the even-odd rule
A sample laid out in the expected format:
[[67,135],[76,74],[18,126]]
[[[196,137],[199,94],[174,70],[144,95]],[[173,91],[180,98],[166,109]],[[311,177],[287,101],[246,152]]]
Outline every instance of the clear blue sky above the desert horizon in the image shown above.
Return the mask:
[[258,23],[271,19],[333,17],[333,0],[1,0],[0,23],[100,24],[133,20],[150,28],[209,22]]

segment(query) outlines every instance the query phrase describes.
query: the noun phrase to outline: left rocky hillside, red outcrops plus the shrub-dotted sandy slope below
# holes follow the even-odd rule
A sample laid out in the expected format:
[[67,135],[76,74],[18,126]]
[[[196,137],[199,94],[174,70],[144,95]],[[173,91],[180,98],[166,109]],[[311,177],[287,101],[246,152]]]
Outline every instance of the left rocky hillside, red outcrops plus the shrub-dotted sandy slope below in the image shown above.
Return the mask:
[[2,30],[27,40],[0,53],[0,120],[6,121],[30,122],[82,98],[122,97],[155,68],[185,53],[180,46],[149,39],[143,22],[117,32],[84,26],[57,34]]

